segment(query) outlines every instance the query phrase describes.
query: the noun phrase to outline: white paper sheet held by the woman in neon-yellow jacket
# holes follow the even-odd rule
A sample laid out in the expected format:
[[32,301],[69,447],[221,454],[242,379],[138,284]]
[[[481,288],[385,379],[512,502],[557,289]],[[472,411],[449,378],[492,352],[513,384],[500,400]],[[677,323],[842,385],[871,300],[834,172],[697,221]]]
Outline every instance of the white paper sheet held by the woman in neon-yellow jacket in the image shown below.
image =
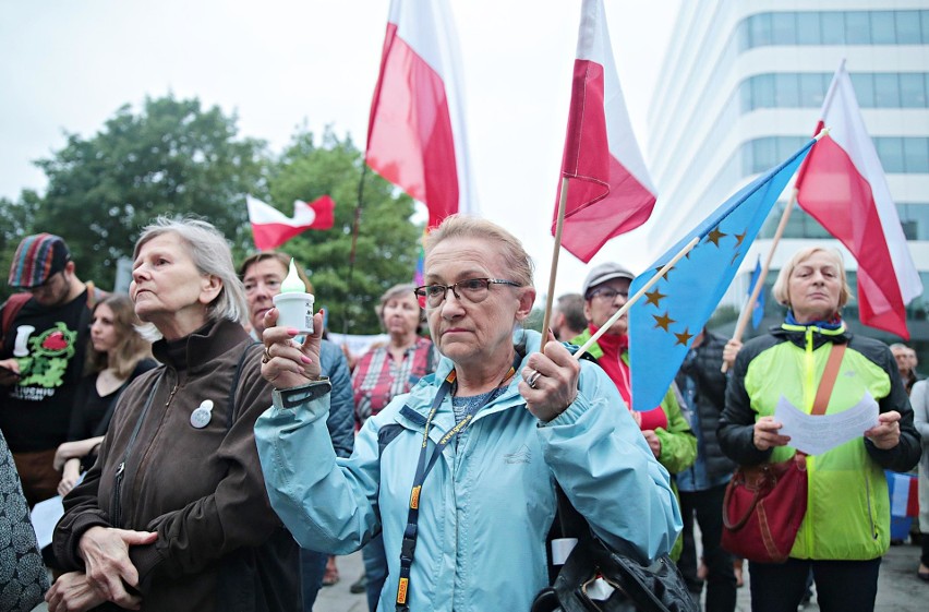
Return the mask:
[[779,432],[789,435],[789,445],[807,455],[821,455],[849,440],[861,437],[878,424],[878,403],[867,391],[861,401],[837,415],[813,417],[799,410],[781,396],[774,408],[774,419],[784,427]]

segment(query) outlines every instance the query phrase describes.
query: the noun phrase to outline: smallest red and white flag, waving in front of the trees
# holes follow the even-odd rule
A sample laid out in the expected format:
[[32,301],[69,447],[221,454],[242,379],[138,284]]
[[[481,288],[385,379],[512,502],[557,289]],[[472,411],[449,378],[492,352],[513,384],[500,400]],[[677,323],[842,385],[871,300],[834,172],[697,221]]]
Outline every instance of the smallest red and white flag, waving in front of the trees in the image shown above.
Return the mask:
[[295,200],[292,218],[251,195],[245,196],[245,203],[258,251],[277,249],[307,229],[329,229],[335,223],[333,211],[336,203],[328,195],[310,203]]

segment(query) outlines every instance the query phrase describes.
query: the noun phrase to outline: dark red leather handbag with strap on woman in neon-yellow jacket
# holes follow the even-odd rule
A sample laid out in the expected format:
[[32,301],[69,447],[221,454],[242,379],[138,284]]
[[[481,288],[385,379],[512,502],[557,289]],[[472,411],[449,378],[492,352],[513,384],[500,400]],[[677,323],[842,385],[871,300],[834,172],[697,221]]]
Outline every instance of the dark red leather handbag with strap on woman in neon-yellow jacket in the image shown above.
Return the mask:
[[[845,345],[832,345],[811,415],[825,413]],[[761,563],[783,563],[807,514],[807,456],[779,464],[739,466],[723,499],[722,547]]]

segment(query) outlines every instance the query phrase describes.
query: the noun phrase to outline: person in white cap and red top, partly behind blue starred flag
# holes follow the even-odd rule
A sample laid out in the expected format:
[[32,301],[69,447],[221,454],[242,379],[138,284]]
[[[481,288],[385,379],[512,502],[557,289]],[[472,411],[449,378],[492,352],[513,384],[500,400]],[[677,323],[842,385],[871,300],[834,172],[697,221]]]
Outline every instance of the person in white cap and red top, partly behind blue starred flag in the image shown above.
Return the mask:
[[[581,346],[615,314],[629,298],[629,286],[635,275],[616,263],[594,266],[583,281],[584,315],[588,327],[570,340]],[[631,376],[629,373],[629,317],[624,314],[594,343],[588,352],[616,384],[619,395],[631,410]],[[642,411],[632,411],[642,435],[659,463],[671,473],[690,466],[697,458],[697,439],[690,431],[687,419],[674,393],[667,389],[660,406]],[[679,540],[678,540],[679,542]],[[674,552],[679,552],[679,544]]]

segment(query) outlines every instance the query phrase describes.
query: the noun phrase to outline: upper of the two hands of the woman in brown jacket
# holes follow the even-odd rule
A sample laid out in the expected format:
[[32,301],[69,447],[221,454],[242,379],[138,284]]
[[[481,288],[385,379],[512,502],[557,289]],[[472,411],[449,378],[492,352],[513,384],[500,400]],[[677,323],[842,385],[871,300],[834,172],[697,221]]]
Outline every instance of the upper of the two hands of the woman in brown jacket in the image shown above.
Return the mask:
[[125,590],[126,585],[138,587],[138,571],[129,559],[129,547],[150,544],[157,539],[156,531],[91,527],[81,536],[77,545],[87,583],[105,600],[137,610],[138,597]]

